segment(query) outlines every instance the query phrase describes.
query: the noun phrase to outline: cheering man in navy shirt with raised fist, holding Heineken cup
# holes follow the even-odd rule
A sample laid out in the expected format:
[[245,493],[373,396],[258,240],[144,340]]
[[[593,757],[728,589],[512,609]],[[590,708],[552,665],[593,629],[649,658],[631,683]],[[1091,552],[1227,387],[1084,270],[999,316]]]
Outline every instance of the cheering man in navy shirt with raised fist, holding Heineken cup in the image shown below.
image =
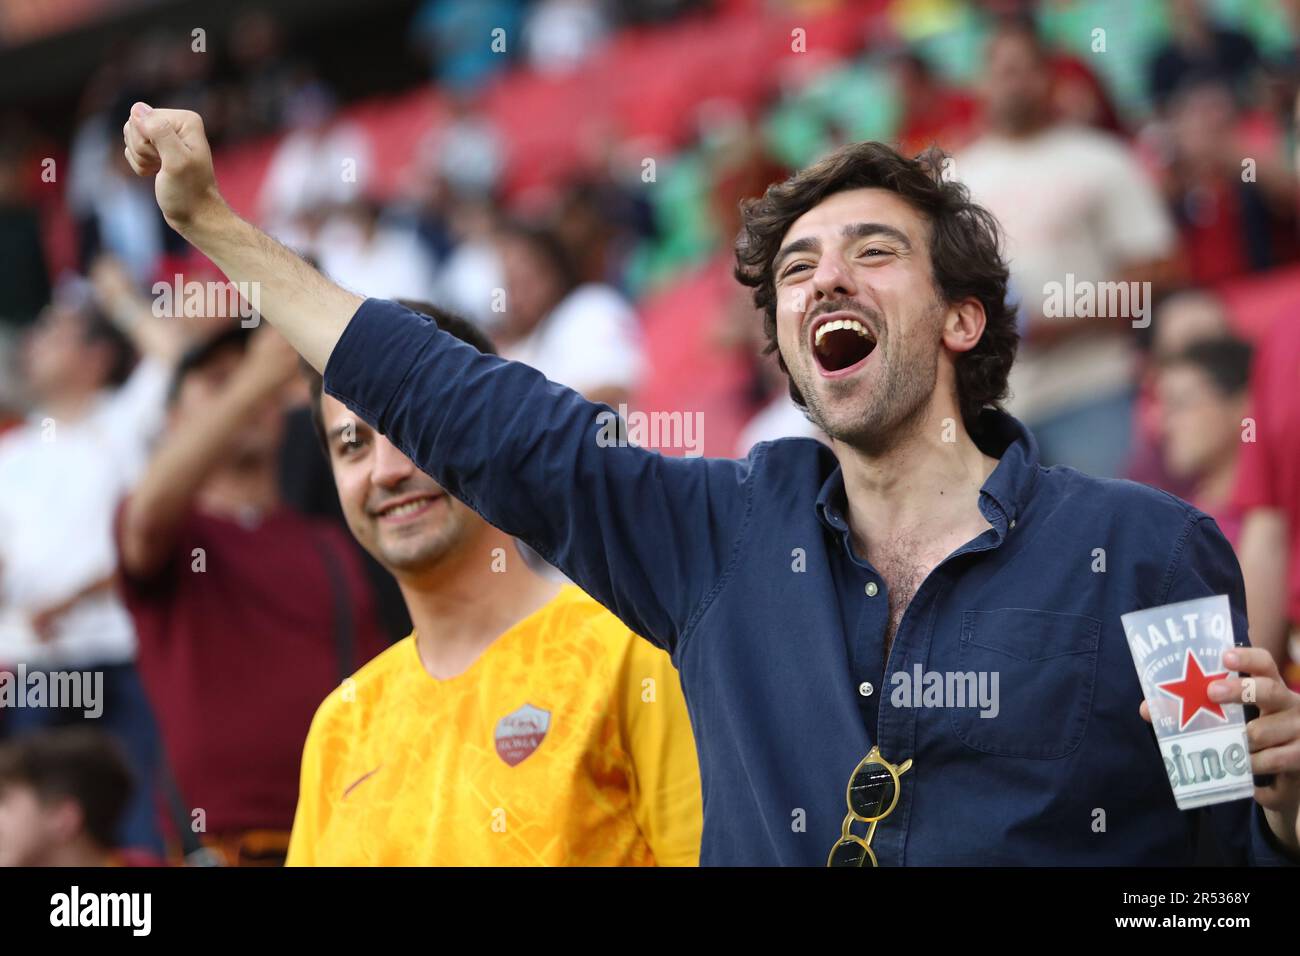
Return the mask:
[[[1183,813],[1121,628],[1227,593],[1244,637],[1231,549],[1176,498],[1039,464],[996,407],[1015,345],[996,222],[935,166],[859,143],[746,207],[737,274],[832,446],[737,462],[602,446],[602,406],[338,289],[230,212],[194,113],[138,104],[125,135],[168,221],[261,284],[329,394],[672,654],[701,862],[1178,865],[1210,835],[1236,862],[1295,853],[1300,697],[1271,658],[1226,663],[1257,678],[1251,765],[1275,783]],[[996,715],[887,695],[918,665],[997,672]]]

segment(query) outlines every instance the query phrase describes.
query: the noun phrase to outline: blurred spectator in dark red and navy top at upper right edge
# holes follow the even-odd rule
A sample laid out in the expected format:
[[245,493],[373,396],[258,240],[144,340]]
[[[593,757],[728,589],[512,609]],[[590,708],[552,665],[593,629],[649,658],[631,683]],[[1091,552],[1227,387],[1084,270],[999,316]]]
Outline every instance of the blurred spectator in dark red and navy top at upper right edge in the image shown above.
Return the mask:
[[[1271,120],[1269,117],[1262,117]],[[1165,193],[1199,282],[1269,269],[1296,256],[1296,182],[1274,130],[1245,139],[1219,82],[1184,85],[1169,107]],[[1243,169],[1249,161],[1251,169]],[[1251,174],[1247,176],[1247,172]]]

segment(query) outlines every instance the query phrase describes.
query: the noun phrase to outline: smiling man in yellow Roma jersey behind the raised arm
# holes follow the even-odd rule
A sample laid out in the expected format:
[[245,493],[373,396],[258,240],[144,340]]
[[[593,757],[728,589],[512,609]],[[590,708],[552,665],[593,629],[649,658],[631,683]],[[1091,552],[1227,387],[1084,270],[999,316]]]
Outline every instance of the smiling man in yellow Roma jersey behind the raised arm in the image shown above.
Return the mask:
[[312,401],[343,516],[415,632],[317,711],[289,864],[694,866],[699,767],[667,654],[534,574],[320,376]]

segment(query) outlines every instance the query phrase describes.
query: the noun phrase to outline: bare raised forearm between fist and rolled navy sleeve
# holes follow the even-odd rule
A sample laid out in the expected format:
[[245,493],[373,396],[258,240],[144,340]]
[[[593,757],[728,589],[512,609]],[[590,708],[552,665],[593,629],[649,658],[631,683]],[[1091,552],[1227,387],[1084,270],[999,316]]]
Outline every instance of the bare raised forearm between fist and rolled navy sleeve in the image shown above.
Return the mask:
[[250,282],[257,308],[316,371],[363,299],[325,278],[299,255],[221,203],[182,233],[237,284]]

